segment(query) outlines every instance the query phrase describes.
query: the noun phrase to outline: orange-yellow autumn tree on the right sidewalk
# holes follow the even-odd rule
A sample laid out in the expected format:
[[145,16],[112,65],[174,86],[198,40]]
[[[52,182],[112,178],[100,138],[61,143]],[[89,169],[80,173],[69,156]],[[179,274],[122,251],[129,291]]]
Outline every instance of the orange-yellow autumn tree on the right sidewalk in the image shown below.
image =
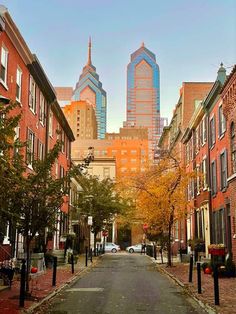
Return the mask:
[[168,236],[168,266],[171,266],[173,225],[186,215],[186,187],[190,176],[176,158],[165,154],[132,183],[137,190],[138,214],[148,224],[148,232]]

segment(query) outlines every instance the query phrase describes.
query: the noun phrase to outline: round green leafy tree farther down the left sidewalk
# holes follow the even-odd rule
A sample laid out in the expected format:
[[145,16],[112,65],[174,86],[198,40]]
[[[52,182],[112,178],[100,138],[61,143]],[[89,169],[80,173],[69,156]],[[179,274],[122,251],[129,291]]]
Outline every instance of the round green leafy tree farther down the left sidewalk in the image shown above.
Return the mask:
[[108,178],[100,180],[97,176],[81,175],[77,180],[83,190],[77,208],[81,214],[93,217],[91,230],[96,239],[104,226],[111,223],[116,214],[122,213],[128,204],[116,191],[115,183]]

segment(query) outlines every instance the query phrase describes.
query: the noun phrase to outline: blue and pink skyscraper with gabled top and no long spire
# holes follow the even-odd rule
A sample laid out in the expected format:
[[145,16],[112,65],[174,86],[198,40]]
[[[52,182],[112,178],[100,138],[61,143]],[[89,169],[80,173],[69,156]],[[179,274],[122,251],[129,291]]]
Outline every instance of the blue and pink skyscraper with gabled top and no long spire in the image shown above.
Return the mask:
[[160,70],[156,56],[144,43],[131,54],[127,67],[127,111],[125,127],[148,129],[152,158],[160,138]]

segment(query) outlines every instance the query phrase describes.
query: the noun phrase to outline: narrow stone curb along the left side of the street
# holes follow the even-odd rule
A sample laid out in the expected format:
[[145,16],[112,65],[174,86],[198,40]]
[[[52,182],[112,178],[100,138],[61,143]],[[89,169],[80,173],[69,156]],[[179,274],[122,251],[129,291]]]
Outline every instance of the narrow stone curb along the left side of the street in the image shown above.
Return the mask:
[[86,273],[89,269],[91,269],[93,266],[95,266],[102,255],[98,256],[96,261],[94,261],[92,264],[90,264],[87,268],[81,269],[77,274],[75,274],[70,281],[65,282],[55,290],[53,290],[51,293],[49,293],[44,299],[42,299],[40,302],[35,303],[31,305],[28,309],[22,309],[21,313],[34,313],[34,311],[41,305],[43,305],[44,302],[50,300],[55,295],[57,295],[61,290],[63,290],[65,287],[72,285],[80,276],[82,276],[84,273]]

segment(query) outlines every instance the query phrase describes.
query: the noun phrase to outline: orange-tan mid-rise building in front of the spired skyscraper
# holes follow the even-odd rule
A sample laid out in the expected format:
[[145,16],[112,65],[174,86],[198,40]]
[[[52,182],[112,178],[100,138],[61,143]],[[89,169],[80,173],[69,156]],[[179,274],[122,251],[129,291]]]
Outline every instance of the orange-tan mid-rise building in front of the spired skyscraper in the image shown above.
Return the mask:
[[97,121],[91,104],[85,100],[72,101],[63,107],[63,112],[76,140],[97,138]]

